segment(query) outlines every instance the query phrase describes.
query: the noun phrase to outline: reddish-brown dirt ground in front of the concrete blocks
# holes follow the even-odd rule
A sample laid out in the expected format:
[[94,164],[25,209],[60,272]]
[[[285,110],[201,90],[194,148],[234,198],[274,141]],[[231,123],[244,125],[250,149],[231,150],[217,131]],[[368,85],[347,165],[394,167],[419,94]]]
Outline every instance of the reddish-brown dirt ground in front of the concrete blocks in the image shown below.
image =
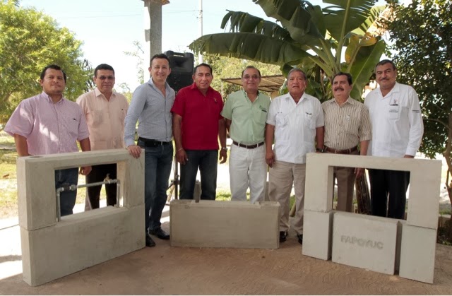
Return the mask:
[[[168,227],[169,223],[163,225],[166,230]],[[275,250],[179,248],[170,247],[169,241],[156,242],[157,247],[126,254],[39,287],[23,282],[21,273],[10,276],[0,280],[0,294],[452,294],[452,247],[441,244],[436,245],[434,284],[430,285],[303,256],[293,232]],[[8,260],[13,259],[0,256],[0,268]]]

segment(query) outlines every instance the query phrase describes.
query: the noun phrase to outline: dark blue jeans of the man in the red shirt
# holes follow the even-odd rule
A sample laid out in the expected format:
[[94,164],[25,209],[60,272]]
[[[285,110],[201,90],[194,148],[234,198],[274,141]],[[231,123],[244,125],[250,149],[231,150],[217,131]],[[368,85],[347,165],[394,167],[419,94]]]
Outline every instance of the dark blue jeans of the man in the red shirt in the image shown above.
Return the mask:
[[218,150],[185,150],[187,160],[181,165],[180,199],[193,199],[196,174],[201,174],[201,199],[215,200],[217,191]]

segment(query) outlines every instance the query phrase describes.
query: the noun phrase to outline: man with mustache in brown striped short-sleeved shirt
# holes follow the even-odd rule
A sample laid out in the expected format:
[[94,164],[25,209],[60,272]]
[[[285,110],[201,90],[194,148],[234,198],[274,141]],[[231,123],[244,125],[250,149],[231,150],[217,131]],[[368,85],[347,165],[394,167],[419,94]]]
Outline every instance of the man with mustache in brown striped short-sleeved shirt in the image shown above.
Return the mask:
[[[323,102],[325,139],[323,152],[367,155],[371,139],[369,110],[350,97],[352,76],[339,72],[333,77],[332,100]],[[358,150],[358,144],[360,150]],[[334,178],[338,182],[338,211],[352,211],[355,177],[364,174],[363,168],[334,167]]]

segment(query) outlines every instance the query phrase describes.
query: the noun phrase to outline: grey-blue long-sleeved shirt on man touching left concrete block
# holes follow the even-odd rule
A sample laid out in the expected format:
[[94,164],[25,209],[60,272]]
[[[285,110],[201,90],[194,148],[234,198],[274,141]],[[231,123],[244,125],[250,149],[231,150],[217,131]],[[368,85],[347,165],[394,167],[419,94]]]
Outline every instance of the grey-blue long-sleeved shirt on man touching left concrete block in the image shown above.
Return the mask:
[[165,96],[150,78],[133,92],[124,127],[126,147],[135,143],[135,126],[138,120],[138,136],[151,140],[172,140],[172,114],[175,93],[165,82]]

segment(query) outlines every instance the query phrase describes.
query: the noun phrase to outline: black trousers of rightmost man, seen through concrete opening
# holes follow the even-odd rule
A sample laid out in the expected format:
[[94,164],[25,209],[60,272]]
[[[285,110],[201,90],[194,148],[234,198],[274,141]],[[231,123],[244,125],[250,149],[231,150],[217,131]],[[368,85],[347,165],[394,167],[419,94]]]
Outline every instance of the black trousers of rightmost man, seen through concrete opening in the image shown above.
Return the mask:
[[410,172],[369,170],[371,214],[404,219]]

